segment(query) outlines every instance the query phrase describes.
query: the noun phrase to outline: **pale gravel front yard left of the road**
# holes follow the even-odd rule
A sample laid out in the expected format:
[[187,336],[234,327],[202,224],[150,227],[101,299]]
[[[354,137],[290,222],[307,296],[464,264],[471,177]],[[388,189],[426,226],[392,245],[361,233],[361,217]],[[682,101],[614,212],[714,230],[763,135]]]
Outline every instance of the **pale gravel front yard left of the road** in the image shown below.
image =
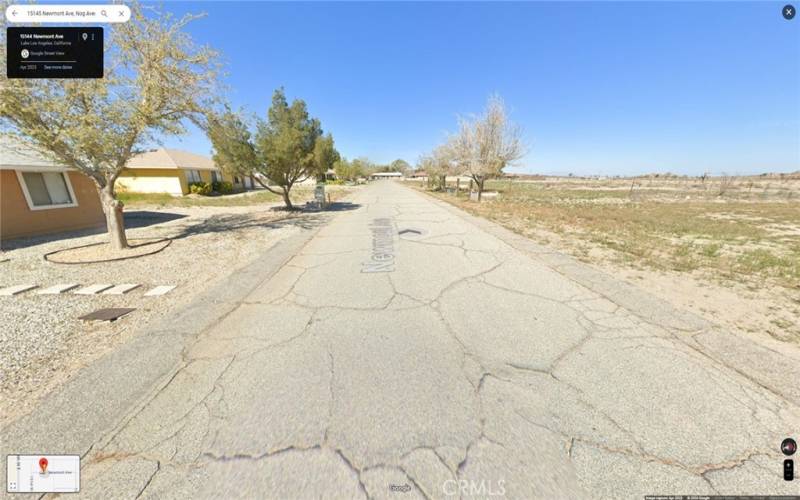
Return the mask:
[[[329,192],[339,199],[349,189],[336,187]],[[299,205],[311,194],[298,190],[293,199]],[[192,206],[187,198],[175,199],[169,207],[144,200],[128,203],[130,239],[172,238],[160,253],[131,260],[65,265],[43,259],[45,253],[55,250],[106,241],[102,232],[4,242],[0,287],[37,284],[44,288],[61,283],[142,286],[123,296],[36,295],[30,291],[0,297],[0,427],[30,411],[39,398],[82,366],[298,231],[297,224],[306,214],[275,210],[280,203],[265,203],[264,198],[264,193],[232,197],[235,203],[221,198],[226,206],[209,206],[208,200]],[[176,288],[162,297],[144,297],[144,292],[155,285]],[[136,311],[113,323],[77,319],[102,307],[132,307]]]

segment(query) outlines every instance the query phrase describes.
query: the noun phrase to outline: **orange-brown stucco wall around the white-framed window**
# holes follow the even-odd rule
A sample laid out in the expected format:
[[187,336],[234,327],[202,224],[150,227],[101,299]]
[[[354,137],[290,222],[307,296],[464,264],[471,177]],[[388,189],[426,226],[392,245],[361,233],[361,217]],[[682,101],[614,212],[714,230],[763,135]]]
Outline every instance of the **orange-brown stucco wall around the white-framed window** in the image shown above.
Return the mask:
[[31,210],[13,170],[0,170],[0,240],[73,231],[106,224],[94,183],[83,174],[68,172],[76,207]]

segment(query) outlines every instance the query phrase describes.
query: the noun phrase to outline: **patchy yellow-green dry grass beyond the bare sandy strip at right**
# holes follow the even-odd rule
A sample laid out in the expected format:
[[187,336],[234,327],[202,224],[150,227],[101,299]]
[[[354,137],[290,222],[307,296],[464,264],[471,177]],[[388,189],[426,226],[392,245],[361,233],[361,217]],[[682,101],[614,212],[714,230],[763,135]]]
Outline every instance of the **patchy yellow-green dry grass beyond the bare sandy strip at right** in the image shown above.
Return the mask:
[[[489,188],[500,196],[480,204],[444,196],[521,232],[545,229],[599,245],[626,264],[705,270],[753,286],[800,287],[800,202],[779,195],[747,200],[729,185],[725,192],[734,196],[720,198],[663,186],[631,195],[607,186],[592,189],[591,182],[498,181]],[[591,246],[578,256],[588,257]]]

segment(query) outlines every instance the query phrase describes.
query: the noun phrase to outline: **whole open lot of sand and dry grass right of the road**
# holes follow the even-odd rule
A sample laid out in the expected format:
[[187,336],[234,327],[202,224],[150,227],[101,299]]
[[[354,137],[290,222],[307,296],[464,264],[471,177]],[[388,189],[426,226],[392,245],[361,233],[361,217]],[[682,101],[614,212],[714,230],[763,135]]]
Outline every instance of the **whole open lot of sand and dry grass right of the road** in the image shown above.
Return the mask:
[[[464,186],[464,183],[461,184]],[[755,336],[800,343],[800,174],[494,181],[434,193]]]

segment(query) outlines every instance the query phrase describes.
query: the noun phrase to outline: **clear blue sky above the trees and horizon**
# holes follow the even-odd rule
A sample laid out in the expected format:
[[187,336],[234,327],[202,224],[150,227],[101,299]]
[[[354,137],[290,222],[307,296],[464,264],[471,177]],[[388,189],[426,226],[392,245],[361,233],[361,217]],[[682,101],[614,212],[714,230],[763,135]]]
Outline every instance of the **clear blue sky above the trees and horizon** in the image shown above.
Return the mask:
[[[800,17],[760,3],[169,2],[206,12],[234,106],[278,86],[347,157],[418,156],[499,93],[529,144],[512,171],[800,170]],[[196,131],[164,143],[210,150]]]

